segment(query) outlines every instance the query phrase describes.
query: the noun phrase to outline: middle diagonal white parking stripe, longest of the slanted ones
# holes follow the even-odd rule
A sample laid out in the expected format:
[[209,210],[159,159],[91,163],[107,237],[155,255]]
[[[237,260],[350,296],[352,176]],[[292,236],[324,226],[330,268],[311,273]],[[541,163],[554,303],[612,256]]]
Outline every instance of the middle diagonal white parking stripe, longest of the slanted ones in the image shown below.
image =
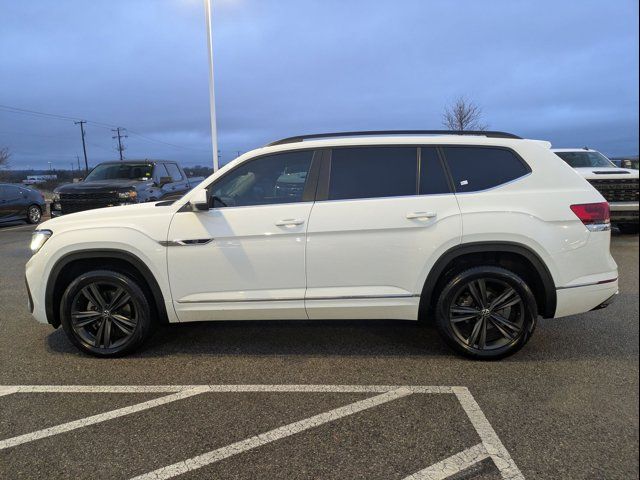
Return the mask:
[[328,412],[320,413],[318,415],[314,415],[313,417],[305,418],[304,420],[293,422],[274,430],[261,433],[260,435],[256,435],[255,437],[232,443],[231,445],[227,445],[226,447],[218,448],[217,450],[212,450],[202,455],[198,455],[197,457],[189,458],[188,460],[159,468],[158,470],[154,470],[153,472],[145,473],[144,475],[135,477],[134,480],[165,480],[167,478],[173,478],[177,475],[182,475],[183,473],[190,472],[191,470],[202,468],[206,465],[210,465],[225,458],[229,458],[233,455],[238,455],[239,453],[252,450],[262,445],[266,445],[267,443],[280,440],[281,438],[295,435],[296,433],[309,430],[310,428],[317,427],[324,423],[333,422],[334,420],[353,415],[354,413],[362,412],[363,410],[382,405],[383,403],[406,397],[407,395],[411,395],[411,393],[411,390],[409,390],[408,388],[399,388],[397,390],[392,390],[375,397],[367,398],[366,400],[360,400],[358,402],[350,403],[349,405],[345,405],[344,407],[334,408],[333,410],[329,410]]

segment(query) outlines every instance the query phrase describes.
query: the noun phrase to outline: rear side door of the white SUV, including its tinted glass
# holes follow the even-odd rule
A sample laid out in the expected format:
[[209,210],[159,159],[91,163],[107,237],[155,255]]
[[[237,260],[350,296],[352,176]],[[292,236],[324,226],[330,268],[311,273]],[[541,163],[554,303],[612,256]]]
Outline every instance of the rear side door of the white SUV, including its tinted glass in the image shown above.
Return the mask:
[[311,319],[415,320],[428,269],[460,242],[437,148],[335,148],[307,230]]

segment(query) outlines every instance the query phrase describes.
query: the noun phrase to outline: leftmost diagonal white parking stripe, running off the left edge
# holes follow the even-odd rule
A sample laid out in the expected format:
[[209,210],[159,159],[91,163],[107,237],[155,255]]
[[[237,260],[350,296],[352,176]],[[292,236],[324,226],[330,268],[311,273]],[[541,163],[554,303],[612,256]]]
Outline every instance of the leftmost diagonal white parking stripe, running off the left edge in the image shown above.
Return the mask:
[[17,437],[7,438],[6,440],[0,441],[0,450],[4,450],[5,448],[9,447],[15,447],[16,445],[20,445],[22,443],[40,440],[41,438],[51,437],[60,433],[69,432],[77,428],[88,427],[89,425],[94,425],[96,423],[106,422],[107,420],[112,420],[114,418],[129,415],[131,413],[136,413],[142,410],[147,410],[149,408],[165,405],[167,403],[175,402],[176,400],[182,400],[183,398],[187,397],[192,397],[193,395],[198,395],[206,391],[206,388],[192,388],[190,390],[183,390],[178,393],[167,395],[166,397],[154,398],[153,400],[149,400],[147,402],[137,403],[135,405],[119,408],[117,410],[111,410],[109,412],[100,413],[91,417],[81,418],[73,422],[62,423],[60,425],[56,425],[55,427],[45,428],[44,430],[37,430],[35,432],[26,433]]

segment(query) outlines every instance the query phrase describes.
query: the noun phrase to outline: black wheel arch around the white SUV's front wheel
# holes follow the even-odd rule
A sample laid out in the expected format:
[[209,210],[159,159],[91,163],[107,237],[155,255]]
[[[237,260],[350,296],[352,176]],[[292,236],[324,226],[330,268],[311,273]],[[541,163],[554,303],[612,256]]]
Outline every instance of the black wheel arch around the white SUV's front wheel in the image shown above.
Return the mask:
[[149,267],[136,255],[117,249],[91,249],[68,253],[58,259],[51,269],[45,288],[45,311],[48,322],[60,326],[59,301],[64,289],[78,271],[106,268],[130,274],[141,282],[141,287],[151,295],[151,304],[158,320],[168,323],[168,316],[162,290]]

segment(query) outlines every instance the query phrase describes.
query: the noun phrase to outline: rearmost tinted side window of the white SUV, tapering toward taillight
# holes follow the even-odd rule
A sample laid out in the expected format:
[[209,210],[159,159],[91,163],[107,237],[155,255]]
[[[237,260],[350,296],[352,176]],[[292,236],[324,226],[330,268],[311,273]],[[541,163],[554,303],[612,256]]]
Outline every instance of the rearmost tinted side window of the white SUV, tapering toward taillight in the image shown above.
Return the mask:
[[529,173],[512,151],[503,148],[444,147],[458,192],[475,192],[507,183]]

